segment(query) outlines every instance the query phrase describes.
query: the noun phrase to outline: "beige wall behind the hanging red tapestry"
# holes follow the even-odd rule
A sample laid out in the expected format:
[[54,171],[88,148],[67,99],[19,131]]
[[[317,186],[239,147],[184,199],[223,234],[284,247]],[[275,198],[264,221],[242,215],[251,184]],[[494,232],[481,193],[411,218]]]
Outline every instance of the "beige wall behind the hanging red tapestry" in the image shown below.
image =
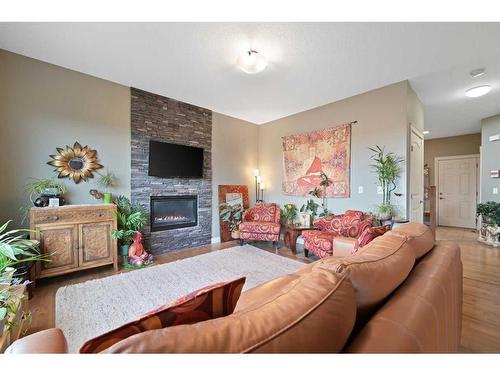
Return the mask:
[[[352,127],[351,140],[351,197],[329,199],[329,209],[344,212],[346,209],[373,210],[381,201],[377,194],[375,175],[371,172],[371,151],[368,147],[385,146],[407,157],[409,112],[408,95],[412,91],[408,83],[399,82],[361,95],[357,95],[296,115],[261,125],[259,131],[259,167],[268,190],[267,200],[295,203],[300,207],[305,197],[286,196],[282,193],[283,152],[281,137],[324,129],[357,120]],[[413,103],[413,106],[417,104]],[[417,115],[416,115],[417,116]],[[363,186],[364,192],[358,193]],[[394,203],[406,212],[406,171],[396,190],[404,195]]]

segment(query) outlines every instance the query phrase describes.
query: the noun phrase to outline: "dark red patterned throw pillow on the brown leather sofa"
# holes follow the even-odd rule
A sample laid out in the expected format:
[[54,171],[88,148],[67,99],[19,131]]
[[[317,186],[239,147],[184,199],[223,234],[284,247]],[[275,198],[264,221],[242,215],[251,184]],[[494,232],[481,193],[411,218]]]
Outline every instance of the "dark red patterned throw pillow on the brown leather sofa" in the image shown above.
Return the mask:
[[80,353],[99,353],[137,333],[216,319],[233,313],[245,277],[210,285],[162,305],[137,320],[87,341]]

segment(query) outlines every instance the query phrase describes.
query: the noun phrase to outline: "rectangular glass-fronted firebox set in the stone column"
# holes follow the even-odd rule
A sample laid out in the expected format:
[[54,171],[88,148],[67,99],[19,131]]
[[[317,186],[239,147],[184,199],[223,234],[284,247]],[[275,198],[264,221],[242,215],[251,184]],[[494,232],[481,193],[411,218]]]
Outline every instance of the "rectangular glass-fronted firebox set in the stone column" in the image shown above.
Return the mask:
[[198,197],[173,195],[151,197],[151,232],[198,225]]

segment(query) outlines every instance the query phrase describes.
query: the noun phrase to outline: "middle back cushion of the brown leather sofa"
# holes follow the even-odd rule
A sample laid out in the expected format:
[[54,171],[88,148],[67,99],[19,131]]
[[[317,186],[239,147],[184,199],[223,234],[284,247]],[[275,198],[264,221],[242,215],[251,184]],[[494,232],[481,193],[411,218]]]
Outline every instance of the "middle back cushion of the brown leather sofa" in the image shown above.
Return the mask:
[[408,276],[415,255],[407,238],[387,232],[363,251],[344,258],[325,258],[315,268],[347,272],[356,291],[358,318],[366,320]]

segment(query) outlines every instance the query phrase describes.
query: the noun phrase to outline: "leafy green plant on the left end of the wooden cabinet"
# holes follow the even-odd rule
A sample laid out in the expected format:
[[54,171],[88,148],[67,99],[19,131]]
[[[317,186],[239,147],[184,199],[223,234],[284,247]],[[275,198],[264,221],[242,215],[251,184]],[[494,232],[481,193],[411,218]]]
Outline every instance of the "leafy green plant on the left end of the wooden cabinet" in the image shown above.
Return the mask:
[[64,205],[65,199],[62,195],[68,192],[66,185],[52,178],[37,179],[32,177],[31,180],[25,186],[30,203],[21,208],[23,214],[21,223],[27,221],[31,207],[46,207],[49,205],[50,198],[59,198],[59,205]]

